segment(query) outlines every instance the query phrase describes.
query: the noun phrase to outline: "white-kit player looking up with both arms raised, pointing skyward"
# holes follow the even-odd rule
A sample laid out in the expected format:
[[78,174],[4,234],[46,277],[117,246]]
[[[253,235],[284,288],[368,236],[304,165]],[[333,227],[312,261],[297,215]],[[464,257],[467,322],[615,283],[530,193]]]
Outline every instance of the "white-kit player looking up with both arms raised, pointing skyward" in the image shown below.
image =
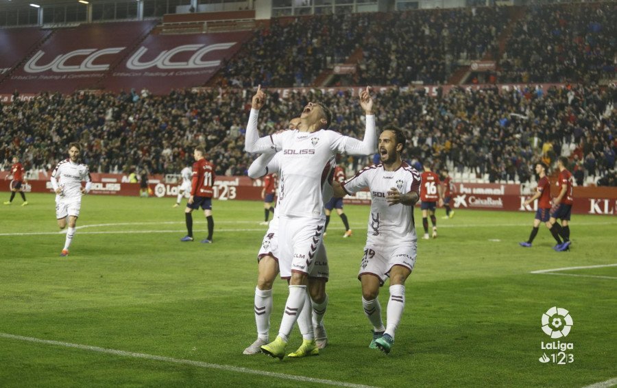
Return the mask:
[[[261,347],[271,356],[285,356],[287,339],[293,324],[302,313],[306,287],[315,254],[322,243],[326,223],[322,187],[332,171],[337,153],[370,155],[375,151],[375,117],[369,88],[361,93],[360,104],[366,114],[363,141],[328,131],[330,111],[321,104],[309,102],[302,115],[302,130],[289,130],[259,138],[258,112],[263,107],[265,93],[258,88],[252,99],[252,109],[245,135],[245,150],[262,154],[280,151],[280,193],[277,212],[281,256],[291,257],[291,281],[285,314],[278,337]],[[313,352],[315,341],[304,341],[296,353]]]

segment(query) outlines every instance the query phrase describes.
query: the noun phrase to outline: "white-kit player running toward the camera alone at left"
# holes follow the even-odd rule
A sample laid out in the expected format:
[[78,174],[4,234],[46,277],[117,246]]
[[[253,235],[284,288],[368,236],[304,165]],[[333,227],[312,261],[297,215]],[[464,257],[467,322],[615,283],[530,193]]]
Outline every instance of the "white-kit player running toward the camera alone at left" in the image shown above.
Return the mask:
[[[60,256],[69,256],[69,246],[75,236],[75,223],[77,217],[80,217],[82,195],[88,193],[92,185],[88,166],[79,162],[81,151],[80,143],[69,144],[69,158],[59,162],[51,173],[51,186],[56,191],[56,219],[60,229],[66,228],[66,217],[69,217],[69,230]],[[82,180],[86,181],[86,187],[82,187]]]

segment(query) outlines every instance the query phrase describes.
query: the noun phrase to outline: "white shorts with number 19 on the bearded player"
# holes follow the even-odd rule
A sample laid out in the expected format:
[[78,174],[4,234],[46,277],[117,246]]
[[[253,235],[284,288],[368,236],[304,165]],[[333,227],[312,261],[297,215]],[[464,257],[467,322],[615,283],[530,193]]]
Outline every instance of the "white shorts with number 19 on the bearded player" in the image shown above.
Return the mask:
[[413,271],[417,247],[417,243],[365,245],[358,279],[361,275],[373,274],[379,278],[380,285],[383,286],[389,276],[390,269],[395,265],[402,265]]

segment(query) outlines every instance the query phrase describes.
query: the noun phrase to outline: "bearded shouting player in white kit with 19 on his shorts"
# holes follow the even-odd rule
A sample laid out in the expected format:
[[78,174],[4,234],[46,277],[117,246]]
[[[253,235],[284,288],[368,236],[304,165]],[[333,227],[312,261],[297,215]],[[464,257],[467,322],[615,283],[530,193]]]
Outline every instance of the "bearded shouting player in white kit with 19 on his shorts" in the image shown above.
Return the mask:
[[[386,354],[394,343],[394,332],[405,306],[405,280],[415,265],[418,236],[413,222],[413,206],[420,196],[420,173],[400,154],[405,147],[400,129],[389,125],[379,136],[381,163],[362,169],[341,185],[333,184],[335,195],[353,194],[367,187],[371,192],[371,214],[364,256],[358,278],[362,284],[364,312],[373,325],[369,348]],[[379,287],[390,278],[387,326],[383,327]]]

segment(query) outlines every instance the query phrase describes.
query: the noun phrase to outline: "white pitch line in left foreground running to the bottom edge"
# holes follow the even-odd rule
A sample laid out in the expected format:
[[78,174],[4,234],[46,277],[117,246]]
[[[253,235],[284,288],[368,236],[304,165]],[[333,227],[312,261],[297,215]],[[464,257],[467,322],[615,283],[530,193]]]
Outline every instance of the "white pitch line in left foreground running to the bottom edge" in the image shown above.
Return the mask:
[[204,363],[202,361],[174,359],[172,357],[156,356],[154,354],[125,352],[124,350],[99,348],[98,346],[82,345],[80,343],[51,341],[49,339],[39,339],[39,338],[34,338],[34,337],[23,337],[21,335],[12,335],[12,334],[8,334],[5,332],[0,332],[0,337],[4,337],[8,339],[16,339],[19,341],[34,342],[34,343],[45,343],[46,345],[63,346],[64,348],[77,348],[81,350],[88,350],[90,352],[114,354],[116,356],[132,357],[134,359],[146,359],[146,360],[154,360],[154,361],[163,361],[166,363],[193,365],[195,367],[202,367],[202,368],[208,368],[208,369],[220,369],[220,370],[225,370],[227,372],[256,374],[258,376],[281,378],[284,380],[301,381],[302,383],[317,383],[317,384],[332,385],[335,387],[375,388],[370,385],[345,383],[344,381],[326,380],[324,378],[313,378],[313,377],[306,377],[306,376],[295,376],[293,374],[283,374],[283,373],[276,373],[276,372],[266,372],[262,370],[248,369],[244,367],[234,367],[233,365],[219,365],[219,364],[212,364],[212,363]]

